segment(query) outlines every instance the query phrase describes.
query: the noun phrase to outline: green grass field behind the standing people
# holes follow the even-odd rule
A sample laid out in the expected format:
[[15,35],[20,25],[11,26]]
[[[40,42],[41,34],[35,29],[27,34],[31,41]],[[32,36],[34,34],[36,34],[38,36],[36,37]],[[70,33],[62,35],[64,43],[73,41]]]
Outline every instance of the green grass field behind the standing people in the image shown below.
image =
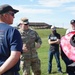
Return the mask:
[[[48,49],[49,49],[48,35],[51,33],[51,31],[50,31],[50,29],[38,29],[36,31],[38,32],[38,34],[40,35],[40,37],[42,39],[41,48],[38,49],[38,55],[41,60],[41,71],[42,71],[41,75],[48,75],[48,73],[47,73],[47,70],[48,70]],[[57,32],[60,33],[61,36],[63,36],[65,34],[65,31],[66,31],[65,29],[57,29]],[[62,75],[66,75],[65,64],[62,59],[60,59],[60,62],[61,62],[61,67],[62,67],[62,71],[63,71]],[[57,72],[57,65],[56,65],[55,58],[53,58],[52,63],[53,63],[52,64],[52,74],[50,74],[50,75],[61,75]],[[20,72],[20,73],[22,75],[22,72]]]

